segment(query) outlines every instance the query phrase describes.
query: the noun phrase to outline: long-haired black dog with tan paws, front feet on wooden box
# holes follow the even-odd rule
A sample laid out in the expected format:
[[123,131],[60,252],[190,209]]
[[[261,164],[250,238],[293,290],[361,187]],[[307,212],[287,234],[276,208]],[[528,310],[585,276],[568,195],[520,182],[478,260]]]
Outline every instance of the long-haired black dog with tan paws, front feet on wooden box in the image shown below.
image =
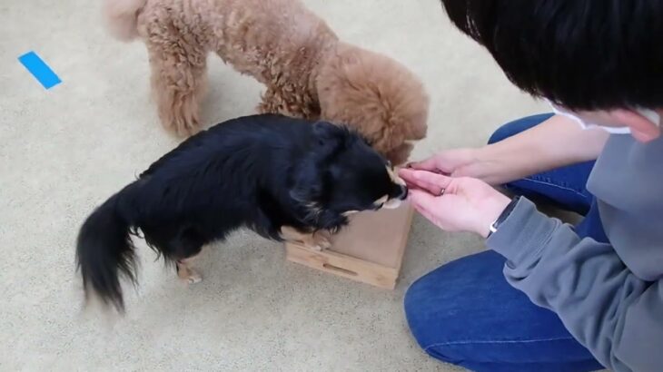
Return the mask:
[[223,122],[154,162],[85,220],[76,258],[86,298],[94,292],[124,309],[119,276],[135,282],[131,235],[139,229],[195,282],[186,259],[233,230],[322,249],[329,243],[318,231],[406,194],[390,164],[346,128],[278,115]]

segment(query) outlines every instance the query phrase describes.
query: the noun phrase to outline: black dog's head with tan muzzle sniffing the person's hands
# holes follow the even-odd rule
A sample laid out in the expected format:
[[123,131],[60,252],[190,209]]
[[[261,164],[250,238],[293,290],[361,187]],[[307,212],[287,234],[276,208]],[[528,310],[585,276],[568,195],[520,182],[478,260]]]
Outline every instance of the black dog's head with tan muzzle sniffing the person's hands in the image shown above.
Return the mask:
[[291,196],[310,209],[316,227],[341,226],[362,210],[397,208],[407,197],[391,163],[358,134],[317,122],[313,136],[317,146],[295,170]]

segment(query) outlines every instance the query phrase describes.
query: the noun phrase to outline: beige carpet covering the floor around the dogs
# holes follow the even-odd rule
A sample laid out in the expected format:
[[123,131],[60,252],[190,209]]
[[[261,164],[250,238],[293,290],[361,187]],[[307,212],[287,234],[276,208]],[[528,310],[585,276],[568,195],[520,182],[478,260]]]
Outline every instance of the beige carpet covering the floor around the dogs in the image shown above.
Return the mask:
[[[0,2],[0,370],[455,370],[417,347],[402,298],[481,241],[417,217],[394,291],[288,263],[239,232],[186,288],[140,244],[142,285],[109,324],[81,316],[74,239],[84,217],[176,140],[157,122],[143,44],[115,42],[100,1]],[[341,37],[395,56],[426,82],[429,138],[416,157],[480,145],[541,109],[448,23],[437,0],[308,0]],[[57,4],[57,5],[55,5]],[[46,91],[16,58],[35,50],[63,83]],[[205,119],[252,113],[261,87],[213,59]]]

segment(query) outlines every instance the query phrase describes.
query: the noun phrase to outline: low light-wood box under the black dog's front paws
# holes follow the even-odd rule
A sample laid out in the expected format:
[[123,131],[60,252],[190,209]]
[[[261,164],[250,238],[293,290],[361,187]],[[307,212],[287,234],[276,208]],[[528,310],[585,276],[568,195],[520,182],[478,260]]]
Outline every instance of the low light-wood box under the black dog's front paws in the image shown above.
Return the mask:
[[350,225],[331,237],[328,250],[310,250],[286,243],[287,259],[344,278],[394,289],[410,233],[413,209],[352,215]]

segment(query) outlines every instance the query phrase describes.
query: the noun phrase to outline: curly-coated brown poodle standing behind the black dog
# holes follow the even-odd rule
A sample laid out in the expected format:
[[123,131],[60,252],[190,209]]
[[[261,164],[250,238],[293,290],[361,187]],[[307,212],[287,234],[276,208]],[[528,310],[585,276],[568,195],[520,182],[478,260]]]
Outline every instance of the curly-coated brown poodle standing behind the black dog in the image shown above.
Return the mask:
[[346,123],[391,162],[426,135],[429,98],[401,64],[342,43],[298,0],[104,0],[113,34],[147,45],[165,128],[199,130],[206,57],[267,86],[260,113]]

